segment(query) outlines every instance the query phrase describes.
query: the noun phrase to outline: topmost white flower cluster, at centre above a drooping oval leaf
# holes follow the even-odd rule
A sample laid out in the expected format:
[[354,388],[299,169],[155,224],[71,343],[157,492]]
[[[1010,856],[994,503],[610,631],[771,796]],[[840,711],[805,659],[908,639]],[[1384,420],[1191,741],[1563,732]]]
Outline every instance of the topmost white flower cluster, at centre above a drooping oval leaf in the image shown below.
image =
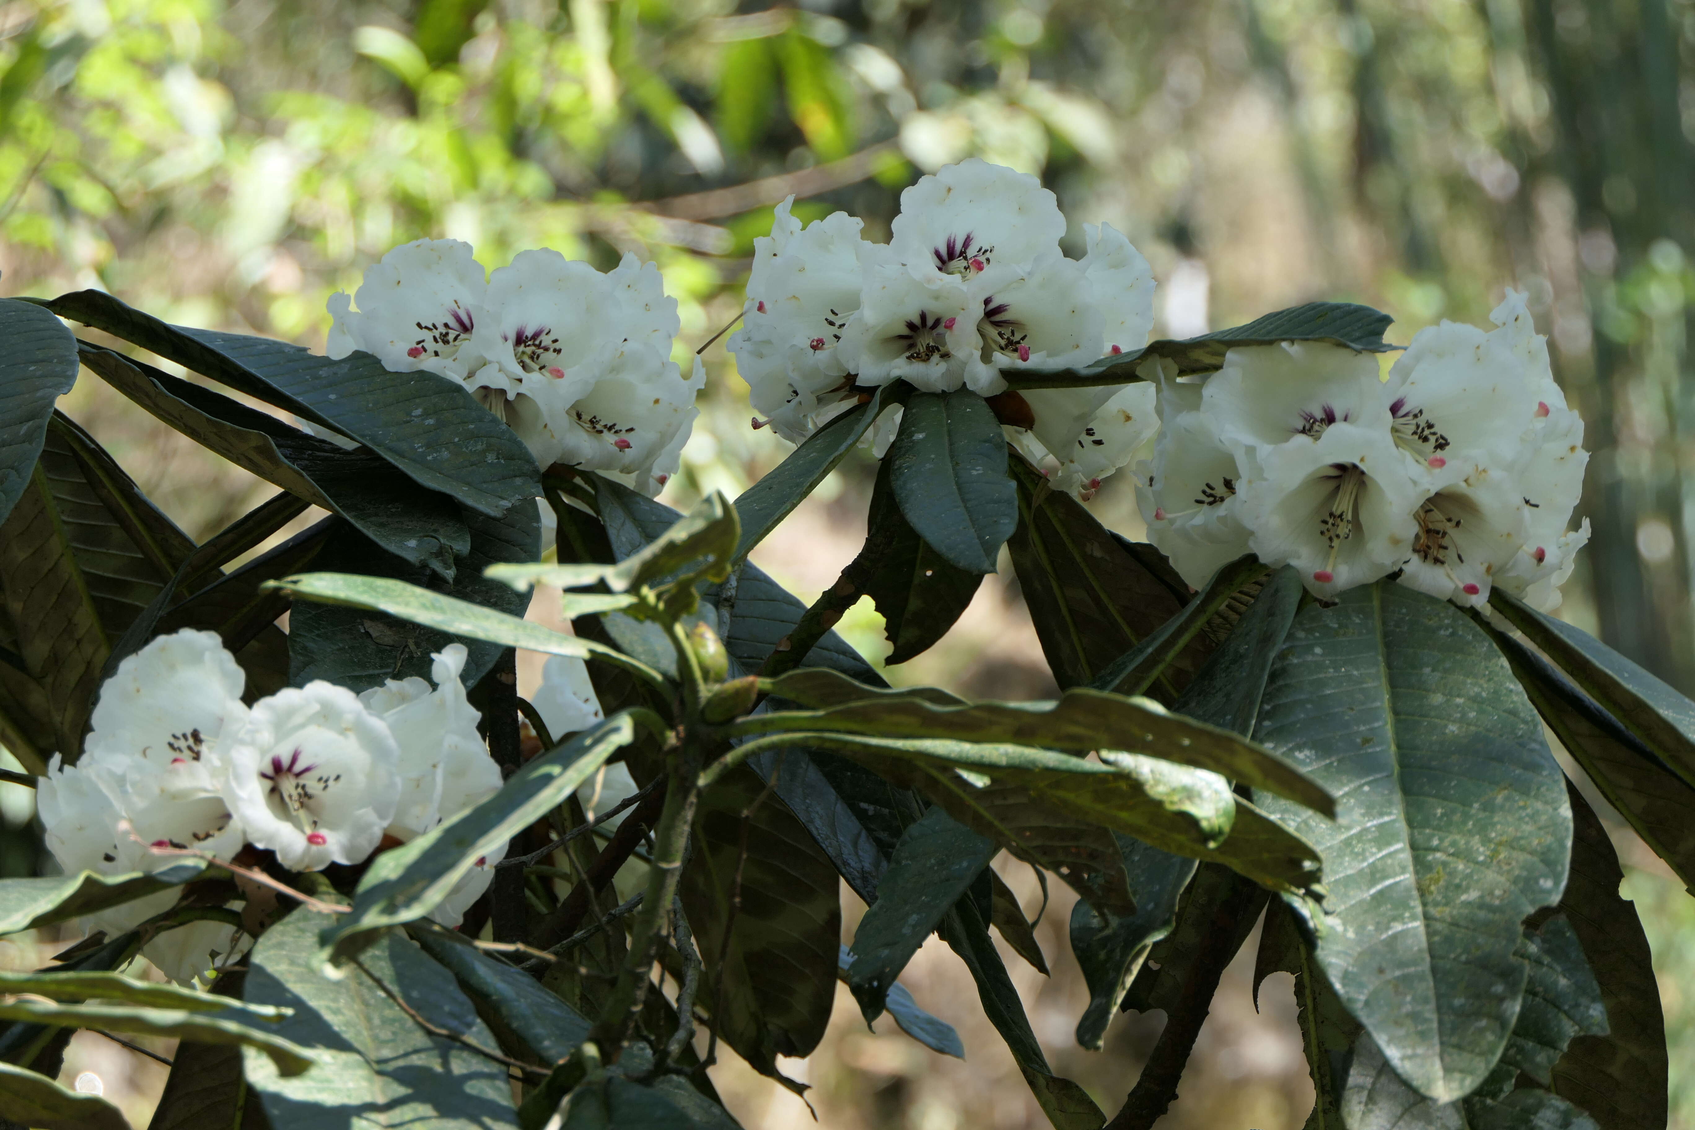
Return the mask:
[[[1153,327],[1148,261],[1112,227],[1088,225],[1086,254],[1059,251],[1066,220],[1034,176],[978,159],[942,168],[900,197],[888,244],[837,212],[810,225],[776,210],[754,241],[742,329],[729,341],[754,410],[790,442],[861,390],[1007,388],[1007,373],[1078,366],[1141,349]],[[1088,491],[1153,434],[1146,383],[1024,393],[1031,454],[1058,483]],[[1034,447],[1029,444],[1034,440]]]

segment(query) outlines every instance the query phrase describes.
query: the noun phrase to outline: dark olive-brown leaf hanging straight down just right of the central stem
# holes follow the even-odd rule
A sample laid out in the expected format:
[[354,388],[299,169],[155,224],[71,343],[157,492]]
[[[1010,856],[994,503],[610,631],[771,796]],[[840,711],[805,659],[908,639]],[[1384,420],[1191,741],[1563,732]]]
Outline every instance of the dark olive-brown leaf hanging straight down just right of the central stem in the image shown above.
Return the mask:
[[829,1025],[841,883],[788,806],[759,800],[766,788],[741,766],[702,795],[680,893],[705,962],[697,1003],[742,1059],[781,1081],[776,1057],[810,1054]]

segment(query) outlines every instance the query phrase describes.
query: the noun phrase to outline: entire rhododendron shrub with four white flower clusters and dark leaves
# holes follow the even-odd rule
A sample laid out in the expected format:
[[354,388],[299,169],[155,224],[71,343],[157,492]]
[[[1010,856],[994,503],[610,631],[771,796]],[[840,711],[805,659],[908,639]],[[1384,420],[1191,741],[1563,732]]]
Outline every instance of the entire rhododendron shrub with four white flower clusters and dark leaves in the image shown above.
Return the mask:
[[[1588,456],[1522,293],[1405,347],[1349,303],[1149,341],[1129,239],[983,161],[912,185],[888,242],[785,202],[746,288],[749,427],[792,451],[686,513],[656,495],[705,378],[631,256],[395,247],[327,356],[0,300],[0,740],[51,857],[0,881],[0,933],[83,939],[0,974],[3,1118],[122,1125],[54,1081],[90,1028],[181,1040],[156,1125],[725,1127],[719,1049],[803,1091],[781,1061],[846,983],[951,1055],[981,1005],[1054,1127],[1146,1128],[1258,937],[1309,1125],[1664,1125],[1578,783],[1695,883],[1695,703],[1549,615]],[[280,493],[193,542],[56,410],[83,368]],[[747,556],[856,446],[870,532],[807,605]],[[1086,505],[1115,474],[1146,540]],[[1059,696],[890,686],[1002,551]],[[878,662],[831,630],[866,598]],[[1075,891],[1070,954],[1002,852]],[[978,1003],[902,988],[931,933]],[[1166,1013],[1110,1120],[1005,952],[1076,962],[1085,1049]],[[197,1044],[239,1066],[190,1079]]]

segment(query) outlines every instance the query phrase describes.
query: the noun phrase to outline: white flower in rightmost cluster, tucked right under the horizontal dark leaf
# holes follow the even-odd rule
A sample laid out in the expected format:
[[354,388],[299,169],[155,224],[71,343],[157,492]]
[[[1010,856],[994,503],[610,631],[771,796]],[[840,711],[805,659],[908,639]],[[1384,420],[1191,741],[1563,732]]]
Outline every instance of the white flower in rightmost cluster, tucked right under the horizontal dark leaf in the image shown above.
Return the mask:
[[1259,454],[1293,437],[1315,440],[1336,424],[1387,434],[1390,422],[1376,356],[1319,342],[1229,351],[1203,386],[1202,412],[1249,476]]

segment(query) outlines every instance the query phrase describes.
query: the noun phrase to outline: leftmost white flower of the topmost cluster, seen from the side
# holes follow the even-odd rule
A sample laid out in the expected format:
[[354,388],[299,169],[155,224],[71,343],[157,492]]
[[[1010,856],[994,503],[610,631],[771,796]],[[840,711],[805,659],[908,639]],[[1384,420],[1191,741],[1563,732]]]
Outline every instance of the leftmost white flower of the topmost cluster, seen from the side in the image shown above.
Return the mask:
[[802,229],[790,213],[793,200],[776,207],[771,234],[753,241],[742,327],[727,347],[754,412],[798,444],[819,425],[817,413],[853,386],[837,344],[859,308],[864,241],[863,222],[846,212]]

